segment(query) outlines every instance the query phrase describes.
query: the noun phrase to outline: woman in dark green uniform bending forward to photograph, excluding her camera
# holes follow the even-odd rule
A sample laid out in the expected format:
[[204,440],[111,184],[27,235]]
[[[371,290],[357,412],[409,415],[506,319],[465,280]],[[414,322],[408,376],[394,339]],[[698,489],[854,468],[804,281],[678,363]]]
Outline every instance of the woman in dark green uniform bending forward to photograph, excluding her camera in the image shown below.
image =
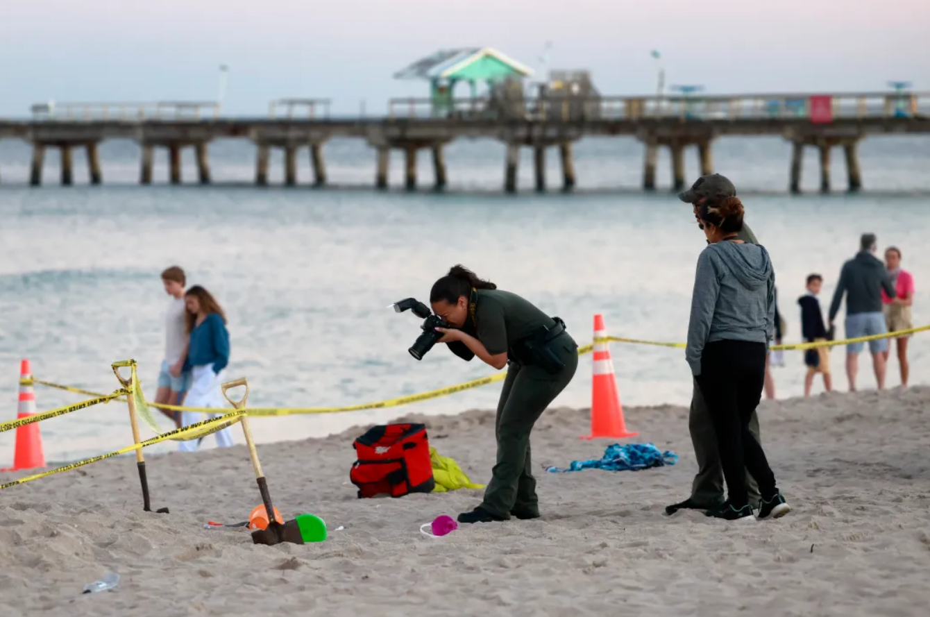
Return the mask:
[[542,412],[572,381],[578,345],[565,323],[457,265],[432,286],[432,311],[450,328],[439,342],[460,358],[477,355],[495,369],[510,365],[498,402],[498,458],[485,501],[459,523],[538,518],[529,434]]

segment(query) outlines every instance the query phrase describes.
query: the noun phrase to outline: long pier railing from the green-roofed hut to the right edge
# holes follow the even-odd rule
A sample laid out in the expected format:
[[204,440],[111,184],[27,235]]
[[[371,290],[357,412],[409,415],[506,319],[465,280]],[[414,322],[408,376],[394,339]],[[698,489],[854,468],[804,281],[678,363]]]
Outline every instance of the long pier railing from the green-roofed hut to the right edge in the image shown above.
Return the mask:
[[[825,115],[826,114],[826,115]],[[516,101],[493,98],[392,99],[390,118],[526,120],[764,120],[874,118],[930,115],[930,92],[854,94],[753,94],[677,97],[552,97]],[[827,120],[829,121],[829,120]]]

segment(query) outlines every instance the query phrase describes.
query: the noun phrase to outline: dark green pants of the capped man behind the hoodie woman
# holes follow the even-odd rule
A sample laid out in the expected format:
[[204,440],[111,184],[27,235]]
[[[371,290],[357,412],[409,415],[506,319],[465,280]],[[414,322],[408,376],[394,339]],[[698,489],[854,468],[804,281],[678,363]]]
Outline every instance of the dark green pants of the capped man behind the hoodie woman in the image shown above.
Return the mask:
[[[691,499],[707,506],[724,503],[724,468],[720,465],[717,436],[713,431],[711,413],[707,409],[700,388],[697,387],[697,382],[694,383],[694,394],[691,396],[688,429],[691,431],[691,442],[697,457],[697,476],[691,487]],[[759,438],[759,416],[755,411],[750,419],[750,433],[756,441],[762,443]],[[746,489],[749,491],[750,505],[758,508],[759,485],[748,471]]]

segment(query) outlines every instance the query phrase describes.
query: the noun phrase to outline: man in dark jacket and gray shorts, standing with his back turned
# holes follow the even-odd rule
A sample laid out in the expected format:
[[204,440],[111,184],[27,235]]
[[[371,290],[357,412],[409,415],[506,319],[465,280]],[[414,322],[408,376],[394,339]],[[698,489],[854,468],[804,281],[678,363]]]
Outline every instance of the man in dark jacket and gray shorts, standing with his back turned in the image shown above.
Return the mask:
[[[875,257],[877,239],[874,234],[863,234],[859,239],[859,252],[856,257],[845,262],[840,271],[840,280],[830,302],[830,327],[840,311],[843,296],[846,296],[845,330],[847,339],[862,336],[885,334],[888,329],[882,310],[882,289],[889,298],[895,298],[897,292],[891,284],[884,264]],[[850,392],[856,392],[856,376],[859,370],[859,354],[864,343],[851,342],[846,345],[846,376],[849,378]],[[869,342],[872,355],[872,367],[875,369],[875,381],[878,389],[884,389],[885,354],[888,340],[877,339]]]

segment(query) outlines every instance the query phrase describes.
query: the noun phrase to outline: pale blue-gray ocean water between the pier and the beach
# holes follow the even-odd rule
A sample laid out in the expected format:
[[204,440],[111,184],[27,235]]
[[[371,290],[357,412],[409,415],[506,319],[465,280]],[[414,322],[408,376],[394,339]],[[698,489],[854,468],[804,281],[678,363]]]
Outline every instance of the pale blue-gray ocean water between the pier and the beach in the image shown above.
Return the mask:
[[[250,404],[328,407],[415,394],[488,375],[437,348],[423,361],[407,354],[419,320],[385,307],[408,296],[426,300],[436,277],[464,263],[498,286],[518,292],[565,319],[579,343],[591,339],[592,315],[604,314],[610,333],[655,341],[684,341],[697,254],[704,247],[690,208],[668,190],[668,158],[660,160],[656,194],[637,190],[642,151],[628,140],[578,144],[577,194],[561,194],[558,161],[550,156],[549,194],[535,194],[529,153],[521,168],[522,194],[500,193],[503,148],[487,141],[456,142],[448,151],[450,190],[433,194],[429,157],[421,156],[423,189],[378,193],[373,151],[364,144],[326,146],[329,179],[339,187],[312,190],[309,155],[301,153],[292,189],[248,186],[254,149],[239,142],[211,147],[217,185],[142,188],[138,149],[112,142],[101,149],[105,184],[60,188],[55,156],[46,160],[46,186],[25,186],[29,150],[0,142],[0,418],[15,417],[19,361],[36,377],[112,391],[110,364],[135,358],[153,398],[163,354],[162,312],[167,298],[159,273],[177,263],[190,284],[216,294],[230,319],[229,378],[247,377]],[[697,161],[688,153],[688,178]],[[786,342],[797,342],[796,298],[804,277],[825,276],[826,311],[845,259],[858,236],[874,232],[881,247],[903,251],[915,276],[916,325],[930,323],[930,139],[872,139],[862,145],[866,192],[843,193],[842,156],[834,155],[837,192],[792,197],[789,147],[778,140],[725,140],[716,168],[732,178],[747,221],[769,249],[777,270]],[[160,154],[156,182],[166,180]],[[75,180],[86,182],[81,155]],[[274,161],[272,182],[283,176]],[[185,178],[193,181],[192,154]],[[400,157],[392,185],[402,181]],[[814,153],[804,187],[818,184]],[[841,322],[842,323],[842,322]],[[841,328],[842,331],[842,328]],[[685,404],[691,380],[684,351],[614,344],[614,365],[627,406]],[[843,352],[832,355],[834,383],[845,389]],[[930,376],[930,335],[911,343],[912,382]],[[777,395],[802,394],[800,352],[775,369]],[[863,356],[860,387],[873,387]],[[888,383],[897,385],[897,366]],[[499,385],[399,409],[257,419],[259,441],[322,436],[355,423],[407,413],[452,413],[494,408]],[[591,396],[590,360],[556,401],[585,406]],[[37,389],[39,409],[80,396]],[[648,410],[641,413],[648,413]],[[636,425],[636,414],[628,417]],[[587,427],[578,426],[578,434]],[[110,404],[42,423],[46,458],[69,460],[131,443],[125,405]],[[0,463],[12,454],[14,432],[0,435]],[[241,436],[236,436],[241,440]],[[207,446],[212,439],[207,439]],[[165,451],[170,445],[153,449]]]

